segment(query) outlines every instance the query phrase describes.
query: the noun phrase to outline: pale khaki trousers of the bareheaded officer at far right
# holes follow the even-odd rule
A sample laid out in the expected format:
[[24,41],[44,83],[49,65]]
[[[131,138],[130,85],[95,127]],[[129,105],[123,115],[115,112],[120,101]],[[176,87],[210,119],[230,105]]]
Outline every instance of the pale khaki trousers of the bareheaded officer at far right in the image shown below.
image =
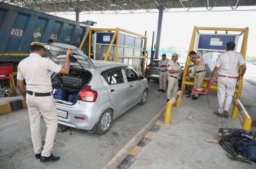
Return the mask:
[[219,113],[223,113],[223,110],[229,110],[235,87],[236,78],[218,77]]

